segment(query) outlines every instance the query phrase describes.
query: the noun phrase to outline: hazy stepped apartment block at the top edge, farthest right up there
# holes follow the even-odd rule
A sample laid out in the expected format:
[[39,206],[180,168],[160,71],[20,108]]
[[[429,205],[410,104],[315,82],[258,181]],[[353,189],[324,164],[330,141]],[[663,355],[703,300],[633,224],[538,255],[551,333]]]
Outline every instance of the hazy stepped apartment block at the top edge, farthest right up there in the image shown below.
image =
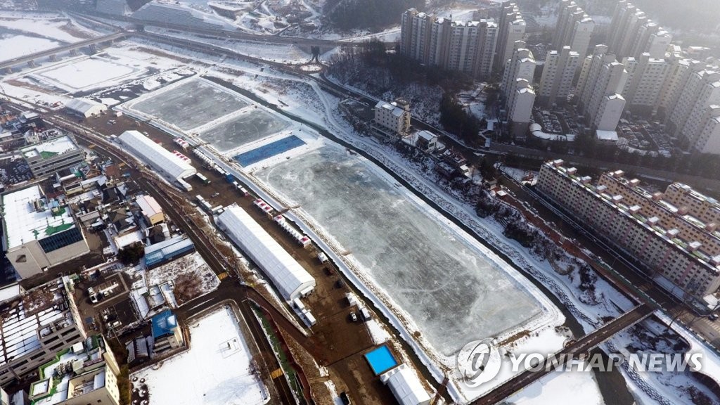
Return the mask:
[[671,42],[670,32],[652,22],[631,2],[618,0],[608,34],[608,48],[618,58],[639,58],[645,52],[650,58],[663,58]]

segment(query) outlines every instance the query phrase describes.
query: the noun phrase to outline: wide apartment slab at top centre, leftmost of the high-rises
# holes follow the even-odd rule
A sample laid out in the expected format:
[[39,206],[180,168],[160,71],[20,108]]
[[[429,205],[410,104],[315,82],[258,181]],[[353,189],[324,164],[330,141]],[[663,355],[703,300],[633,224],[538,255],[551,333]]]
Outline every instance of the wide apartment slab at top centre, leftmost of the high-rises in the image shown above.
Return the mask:
[[402,13],[400,53],[428,66],[485,77],[492,71],[498,25],[459,22],[409,9]]

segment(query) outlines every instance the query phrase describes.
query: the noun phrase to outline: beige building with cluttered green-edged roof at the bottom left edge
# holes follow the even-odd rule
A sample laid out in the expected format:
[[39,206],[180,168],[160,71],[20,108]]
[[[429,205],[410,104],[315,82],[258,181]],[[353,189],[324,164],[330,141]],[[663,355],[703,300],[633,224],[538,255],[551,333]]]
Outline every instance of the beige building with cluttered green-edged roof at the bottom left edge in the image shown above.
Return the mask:
[[30,385],[33,404],[120,404],[120,367],[102,335],[55,353],[55,361],[38,369],[42,379]]

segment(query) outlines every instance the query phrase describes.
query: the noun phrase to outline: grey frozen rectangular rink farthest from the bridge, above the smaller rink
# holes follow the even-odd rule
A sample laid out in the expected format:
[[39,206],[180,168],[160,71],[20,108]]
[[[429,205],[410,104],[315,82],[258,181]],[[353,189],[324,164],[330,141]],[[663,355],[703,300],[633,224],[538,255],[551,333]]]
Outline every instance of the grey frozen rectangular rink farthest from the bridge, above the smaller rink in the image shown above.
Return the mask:
[[187,131],[246,107],[240,95],[204,80],[181,81],[153,92],[130,109],[150,115]]

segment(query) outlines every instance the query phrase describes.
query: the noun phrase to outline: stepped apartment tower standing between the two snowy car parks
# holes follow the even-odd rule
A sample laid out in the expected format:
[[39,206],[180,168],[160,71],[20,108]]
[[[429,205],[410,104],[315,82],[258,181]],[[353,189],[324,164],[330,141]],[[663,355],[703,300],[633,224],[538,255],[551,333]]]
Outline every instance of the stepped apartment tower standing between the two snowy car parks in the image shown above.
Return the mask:
[[613,131],[625,107],[620,92],[627,81],[625,66],[598,45],[582,63],[575,96],[585,122],[596,130]]

